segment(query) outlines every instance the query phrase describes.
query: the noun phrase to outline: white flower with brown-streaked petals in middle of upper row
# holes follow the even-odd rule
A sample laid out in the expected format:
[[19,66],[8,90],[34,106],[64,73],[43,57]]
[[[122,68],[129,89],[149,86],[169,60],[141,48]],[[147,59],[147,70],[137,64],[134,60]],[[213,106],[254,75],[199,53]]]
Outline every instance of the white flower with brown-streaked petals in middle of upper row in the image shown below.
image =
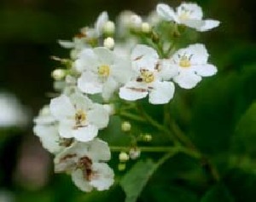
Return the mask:
[[[172,99],[174,84],[163,81],[160,60],[156,51],[146,45],[137,45],[131,53],[135,77],[119,89],[119,96],[127,101],[136,101],[149,96],[152,104],[164,104]],[[171,77],[171,76],[170,76]]]

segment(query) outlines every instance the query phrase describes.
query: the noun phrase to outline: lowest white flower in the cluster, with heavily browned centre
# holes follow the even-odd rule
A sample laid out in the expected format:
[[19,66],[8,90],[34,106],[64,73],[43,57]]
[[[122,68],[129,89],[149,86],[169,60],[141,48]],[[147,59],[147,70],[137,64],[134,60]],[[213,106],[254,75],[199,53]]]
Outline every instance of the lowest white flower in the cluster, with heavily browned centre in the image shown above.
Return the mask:
[[74,142],[55,157],[55,171],[71,172],[74,184],[84,192],[99,191],[113,184],[113,170],[108,164],[110,150],[105,141]]

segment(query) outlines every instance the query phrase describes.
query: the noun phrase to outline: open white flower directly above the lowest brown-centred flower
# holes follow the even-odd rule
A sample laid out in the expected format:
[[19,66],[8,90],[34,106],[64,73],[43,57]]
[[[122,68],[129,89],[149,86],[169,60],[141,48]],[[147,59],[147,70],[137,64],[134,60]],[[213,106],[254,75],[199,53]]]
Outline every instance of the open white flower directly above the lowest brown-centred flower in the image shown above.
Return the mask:
[[84,95],[61,95],[50,101],[49,109],[59,121],[58,131],[64,138],[91,141],[108,125],[108,112]]

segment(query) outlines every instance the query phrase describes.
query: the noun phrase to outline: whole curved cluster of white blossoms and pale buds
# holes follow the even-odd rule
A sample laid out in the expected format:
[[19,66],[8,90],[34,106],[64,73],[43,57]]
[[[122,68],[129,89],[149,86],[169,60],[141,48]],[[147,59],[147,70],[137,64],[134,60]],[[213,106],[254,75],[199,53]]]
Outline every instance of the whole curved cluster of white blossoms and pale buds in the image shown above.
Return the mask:
[[[171,32],[162,37],[165,27],[205,32],[218,26],[202,15],[196,3],[182,3],[176,11],[159,3],[148,17],[125,11],[116,23],[102,12],[94,26],[82,28],[72,41],[59,40],[71,49],[69,59],[54,57],[63,66],[52,72],[60,95],[34,120],[34,133],[55,154],[55,172],[67,172],[85,192],[113,184],[110,148],[98,136],[108,127],[112,104],[118,98],[129,102],[147,96],[151,104],[166,104],[175,95],[175,84],[192,89],[217,72],[204,44],[177,49]],[[101,103],[93,101],[94,95],[101,95]]]

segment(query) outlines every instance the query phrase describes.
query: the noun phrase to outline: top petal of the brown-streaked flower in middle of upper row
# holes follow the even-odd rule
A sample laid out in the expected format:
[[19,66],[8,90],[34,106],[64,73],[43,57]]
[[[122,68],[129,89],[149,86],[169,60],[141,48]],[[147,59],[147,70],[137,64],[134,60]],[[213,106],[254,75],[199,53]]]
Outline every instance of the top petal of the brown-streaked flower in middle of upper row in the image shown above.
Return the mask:
[[158,59],[157,52],[147,45],[138,44],[131,52],[132,67],[136,71],[140,71],[141,68],[154,71]]

